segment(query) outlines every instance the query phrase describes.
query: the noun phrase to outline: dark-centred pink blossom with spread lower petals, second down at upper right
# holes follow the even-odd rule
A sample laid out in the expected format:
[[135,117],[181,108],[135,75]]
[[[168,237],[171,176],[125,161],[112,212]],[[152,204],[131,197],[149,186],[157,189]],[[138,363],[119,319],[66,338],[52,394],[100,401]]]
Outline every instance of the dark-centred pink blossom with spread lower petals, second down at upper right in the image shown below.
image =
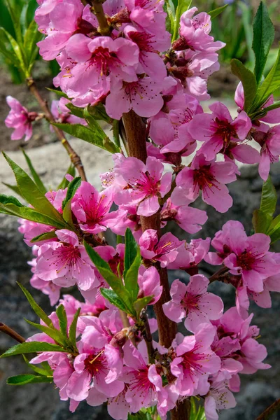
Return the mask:
[[176,205],[193,202],[202,190],[202,200],[225,213],[232,207],[232,197],[225,184],[235,181],[236,173],[233,162],[207,161],[204,155],[196,155],[190,167],[177,175],[172,202]]

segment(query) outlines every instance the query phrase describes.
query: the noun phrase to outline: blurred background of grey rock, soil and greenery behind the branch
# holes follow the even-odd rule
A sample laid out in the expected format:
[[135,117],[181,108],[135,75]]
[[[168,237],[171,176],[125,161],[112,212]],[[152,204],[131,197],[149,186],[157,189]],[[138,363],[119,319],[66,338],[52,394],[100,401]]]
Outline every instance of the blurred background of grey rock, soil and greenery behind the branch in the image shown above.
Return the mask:
[[[36,0],[13,0],[22,9],[22,25],[31,22]],[[174,0],[175,2],[176,0]],[[251,1],[225,1],[228,7],[221,15],[214,19],[211,34],[216,40],[227,43],[220,51],[221,70],[209,78],[209,93],[211,102],[222,100],[225,102],[233,115],[236,106],[233,96],[238,80],[230,73],[230,60],[238,58],[246,66],[253,69],[254,57],[251,43],[253,38],[252,21],[253,15],[258,8],[258,0]],[[223,1],[197,0],[193,1],[199,11],[209,11],[223,6]],[[265,72],[271,69],[276,59],[278,43],[280,41],[280,0],[267,0],[269,15],[275,27],[275,40],[269,53]],[[10,35],[14,36],[14,29],[5,0],[0,0],[0,27],[4,27]],[[51,101],[57,99],[55,94],[45,87],[52,87],[52,77],[57,74],[57,63],[43,62],[39,55],[34,66],[34,78],[41,94]],[[47,123],[39,122],[34,125],[34,135],[27,143],[22,141],[10,141],[10,130],[4,125],[4,119],[8,114],[6,96],[11,95],[32,111],[36,110],[36,102],[28,94],[25,87],[24,76],[10,64],[7,57],[3,57],[0,51],[0,149],[8,151],[10,158],[15,160],[21,167],[27,169],[26,162],[20,151],[20,147],[27,150],[38,174],[45,185],[55,188],[62,180],[69,160],[55,135],[50,133]],[[276,92],[279,100],[280,91]],[[207,109],[205,104],[205,109]],[[85,165],[87,177],[94,186],[99,188],[100,172],[105,172],[112,166],[111,155],[99,148],[93,148],[90,144],[79,139],[71,139],[73,146],[81,156]],[[251,216],[253,210],[259,207],[262,181],[258,176],[258,169],[251,165],[241,165],[241,176],[237,183],[230,184],[230,193],[234,205],[230,211],[223,215],[217,213],[212,207],[207,208],[209,220],[200,232],[200,237],[213,237],[215,232],[221,229],[223,223],[230,218],[244,223],[249,233],[252,228]],[[13,184],[13,175],[8,165],[0,158],[0,181]],[[279,193],[277,214],[280,214],[280,164],[272,167],[272,181]],[[0,193],[9,194],[8,188],[0,184]],[[206,209],[204,202],[198,202],[197,207]],[[22,235],[18,232],[18,222],[15,218],[0,214],[0,321],[15,328],[24,337],[29,337],[35,330],[24,321],[28,318],[36,322],[36,316],[30,310],[29,304],[20,292],[16,281],[23,283],[29,290],[30,269],[27,261],[31,259],[30,249],[22,241]],[[172,232],[181,239],[192,239],[186,232],[179,230],[175,225]],[[274,251],[280,252],[280,244],[274,246]],[[211,275],[209,266],[202,267],[206,275]],[[183,281],[188,280],[188,275],[182,272],[169,272],[170,280],[180,277]],[[235,290],[226,284],[213,284],[214,293],[221,295],[226,309],[235,304]],[[31,293],[45,311],[50,313],[48,297],[38,290],[32,289]],[[237,394],[237,407],[225,410],[219,417],[221,420],[254,420],[275,398],[280,397],[280,295],[272,294],[272,308],[260,309],[252,305],[251,310],[255,314],[253,324],[260,327],[261,337],[259,341],[268,349],[267,363],[272,365],[270,370],[259,371],[254,375],[241,375],[241,392]],[[76,297],[79,297],[78,295]],[[0,334],[0,353],[15,344],[6,335]],[[68,402],[59,400],[57,389],[52,384],[29,384],[22,387],[7,386],[6,378],[13,374],[27,372],[27,367],[20,356],[0,360],[0,407],[1,419],[7,420],[106,420],[104,407],[90,407],[81,403],[76,413],[71,414]],[[280,414],[274,416],[280,419]]]

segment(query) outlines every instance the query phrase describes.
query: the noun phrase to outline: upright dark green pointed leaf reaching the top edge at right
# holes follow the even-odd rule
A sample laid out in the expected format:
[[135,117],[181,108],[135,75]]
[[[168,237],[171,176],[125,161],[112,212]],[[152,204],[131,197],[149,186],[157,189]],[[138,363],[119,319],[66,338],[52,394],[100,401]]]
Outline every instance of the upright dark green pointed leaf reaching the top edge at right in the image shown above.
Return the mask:
[[267,6],[262,1],[253,20],[253,52],[255,53],[255,78],[257,83],[262,78],[268,53],[274,41],[274,27],[269,18]]

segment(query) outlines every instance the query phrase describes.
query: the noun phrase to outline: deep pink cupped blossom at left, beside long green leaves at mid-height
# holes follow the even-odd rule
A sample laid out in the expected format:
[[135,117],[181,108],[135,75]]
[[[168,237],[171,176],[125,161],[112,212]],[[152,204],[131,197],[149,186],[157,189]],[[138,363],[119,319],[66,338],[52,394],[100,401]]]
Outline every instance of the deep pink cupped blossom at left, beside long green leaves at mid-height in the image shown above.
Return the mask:
[[106,230],[118,215],[118,211],[109,213],[112,204],[110,190],[98,193],[90,183],[82,181],[71,202],[71,209],[80,229],[96,234]]

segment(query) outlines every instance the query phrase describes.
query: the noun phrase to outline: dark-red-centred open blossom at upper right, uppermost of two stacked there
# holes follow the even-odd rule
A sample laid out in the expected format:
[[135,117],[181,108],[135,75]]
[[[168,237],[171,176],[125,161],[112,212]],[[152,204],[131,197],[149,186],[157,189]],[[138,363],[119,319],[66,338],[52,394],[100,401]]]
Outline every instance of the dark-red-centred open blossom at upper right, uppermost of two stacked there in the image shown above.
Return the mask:
[[246,139],[252,127],[247,114],[241,111],[237,118],[232,120],[228,108],[221,102],[211,104],[209,109],[212,111],[211,114],[194,116],[188,125],[188,132],[193,139],[204,141],[200,152],[207,160],[215,159],[216,154],[221,152],[225,155],[232,153],[241,162],[258,162],[260,160],[258,151],[248,145],[238,144]]

